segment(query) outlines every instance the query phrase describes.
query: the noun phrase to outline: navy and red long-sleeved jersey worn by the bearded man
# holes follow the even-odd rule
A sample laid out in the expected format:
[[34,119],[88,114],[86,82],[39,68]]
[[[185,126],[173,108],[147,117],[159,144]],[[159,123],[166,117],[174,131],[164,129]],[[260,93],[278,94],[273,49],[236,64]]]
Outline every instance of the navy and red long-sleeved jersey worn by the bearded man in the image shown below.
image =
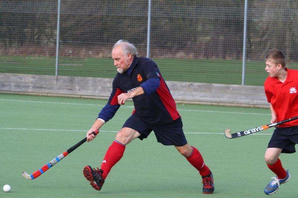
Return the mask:
[[119,109],[117,96],[142,87],[145,94],[132,98],[132,114],[148,124],[170,123],[180,115],[176,103],[166,85],[156,63],[150,58],[134,57],[133,62],[123,74],[117,73],[113,80],[113,89],[107,105],[98,118],[110,120]]

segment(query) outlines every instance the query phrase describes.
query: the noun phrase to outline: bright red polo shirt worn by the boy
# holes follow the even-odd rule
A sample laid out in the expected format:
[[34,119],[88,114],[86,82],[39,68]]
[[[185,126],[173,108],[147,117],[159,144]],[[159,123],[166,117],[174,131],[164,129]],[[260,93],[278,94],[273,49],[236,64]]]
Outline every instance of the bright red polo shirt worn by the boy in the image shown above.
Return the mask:
[[[271,103],[277,121],[298,116],[298,70],[287,69],[287,78],[284,83],[276,77],[268,77],[264,82],[267,101]],[[291,127],[298,125],[293,120],[278,127]]]

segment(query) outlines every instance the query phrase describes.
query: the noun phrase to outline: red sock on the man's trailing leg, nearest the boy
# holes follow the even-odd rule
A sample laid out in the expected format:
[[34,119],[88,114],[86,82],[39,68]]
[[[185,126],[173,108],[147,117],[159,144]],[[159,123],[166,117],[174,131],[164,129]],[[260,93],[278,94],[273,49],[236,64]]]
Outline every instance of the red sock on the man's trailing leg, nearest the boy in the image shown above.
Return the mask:
[[200,175],[206,176],[210,174],[210,170],[204,163],[201,153],[195,147],[192,147],[192,153],[190,156],[186,157],[186,159],[192,166],[199,170]]

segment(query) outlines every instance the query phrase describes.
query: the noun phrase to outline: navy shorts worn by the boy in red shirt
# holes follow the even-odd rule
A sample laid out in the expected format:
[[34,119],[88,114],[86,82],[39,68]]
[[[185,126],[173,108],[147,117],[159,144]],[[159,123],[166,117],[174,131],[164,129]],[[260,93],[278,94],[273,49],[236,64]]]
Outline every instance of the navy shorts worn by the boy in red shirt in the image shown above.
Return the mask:
[[267,148],[281,148],[282,153],[295,153],[295,144],[298,144],[298,126],[277,127]]

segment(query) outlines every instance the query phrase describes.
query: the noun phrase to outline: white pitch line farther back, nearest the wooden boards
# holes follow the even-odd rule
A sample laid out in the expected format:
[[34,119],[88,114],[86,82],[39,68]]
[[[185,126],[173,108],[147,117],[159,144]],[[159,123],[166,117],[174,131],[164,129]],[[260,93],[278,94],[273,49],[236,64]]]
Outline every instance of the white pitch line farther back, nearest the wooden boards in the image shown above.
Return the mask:
[[[28,100],[9,100],[9,99],[0,99],[0,101],[36,102],[36,103],[63,104],[63,105],[104,106],[104,105],[96,105],[96,104],[82,104],[82,103],[68,103],[68,102],[44,102],[44,101],[28,101]],[[122,108],[134,108],[134,106],[125,106],[125,105],[122,105],[121,107]],[[245,113],[245,112],[230,112],[230,111],[209,111],[209,110],[191,110],[191,109],[177,109],[177,110],[178,111],[207,112],[207,113],[224,113],[224,114],[271,115],[271,114]]]

